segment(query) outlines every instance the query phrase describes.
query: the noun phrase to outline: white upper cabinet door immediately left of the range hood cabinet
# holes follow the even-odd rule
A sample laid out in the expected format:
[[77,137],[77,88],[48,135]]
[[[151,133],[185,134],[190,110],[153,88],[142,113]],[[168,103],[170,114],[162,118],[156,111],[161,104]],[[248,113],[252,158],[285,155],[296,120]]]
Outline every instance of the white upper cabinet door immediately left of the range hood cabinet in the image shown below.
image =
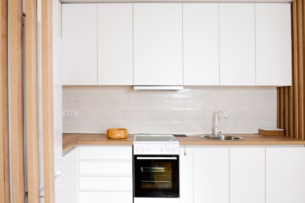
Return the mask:
[[98,85],[133,85],[133,4],[97,4]]

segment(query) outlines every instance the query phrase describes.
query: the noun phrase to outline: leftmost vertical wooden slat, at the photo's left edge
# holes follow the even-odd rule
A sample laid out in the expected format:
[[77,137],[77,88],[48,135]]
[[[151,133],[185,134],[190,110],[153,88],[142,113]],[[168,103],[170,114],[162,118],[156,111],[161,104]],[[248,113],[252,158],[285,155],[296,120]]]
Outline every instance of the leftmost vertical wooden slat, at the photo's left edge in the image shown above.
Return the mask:
[[0,0],[0,203],[10,203],[8,123],[8,1]]

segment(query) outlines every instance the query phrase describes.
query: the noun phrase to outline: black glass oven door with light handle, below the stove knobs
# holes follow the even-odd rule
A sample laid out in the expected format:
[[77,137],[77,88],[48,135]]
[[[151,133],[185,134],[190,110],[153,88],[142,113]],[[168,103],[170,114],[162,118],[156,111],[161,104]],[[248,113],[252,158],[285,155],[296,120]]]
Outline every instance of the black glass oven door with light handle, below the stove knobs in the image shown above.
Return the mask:
[[134,155],[134,197],[179,197],[179,155]]

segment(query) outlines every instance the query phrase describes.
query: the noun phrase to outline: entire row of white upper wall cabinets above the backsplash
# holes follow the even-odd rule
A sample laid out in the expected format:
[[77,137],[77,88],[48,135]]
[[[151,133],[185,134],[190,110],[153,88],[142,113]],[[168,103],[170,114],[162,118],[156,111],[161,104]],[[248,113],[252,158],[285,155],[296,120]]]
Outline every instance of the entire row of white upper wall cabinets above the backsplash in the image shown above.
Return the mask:
[[62,5],[63,85],[290,86],[289,3]]

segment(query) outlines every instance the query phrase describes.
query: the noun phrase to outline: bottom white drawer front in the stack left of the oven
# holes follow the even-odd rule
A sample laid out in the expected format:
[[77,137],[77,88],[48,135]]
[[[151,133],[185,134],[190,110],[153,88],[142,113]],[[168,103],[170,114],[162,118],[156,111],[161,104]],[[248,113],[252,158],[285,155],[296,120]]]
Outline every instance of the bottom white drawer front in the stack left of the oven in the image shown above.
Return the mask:
[[133,192],[80,192],[80,203],[133,203]]

